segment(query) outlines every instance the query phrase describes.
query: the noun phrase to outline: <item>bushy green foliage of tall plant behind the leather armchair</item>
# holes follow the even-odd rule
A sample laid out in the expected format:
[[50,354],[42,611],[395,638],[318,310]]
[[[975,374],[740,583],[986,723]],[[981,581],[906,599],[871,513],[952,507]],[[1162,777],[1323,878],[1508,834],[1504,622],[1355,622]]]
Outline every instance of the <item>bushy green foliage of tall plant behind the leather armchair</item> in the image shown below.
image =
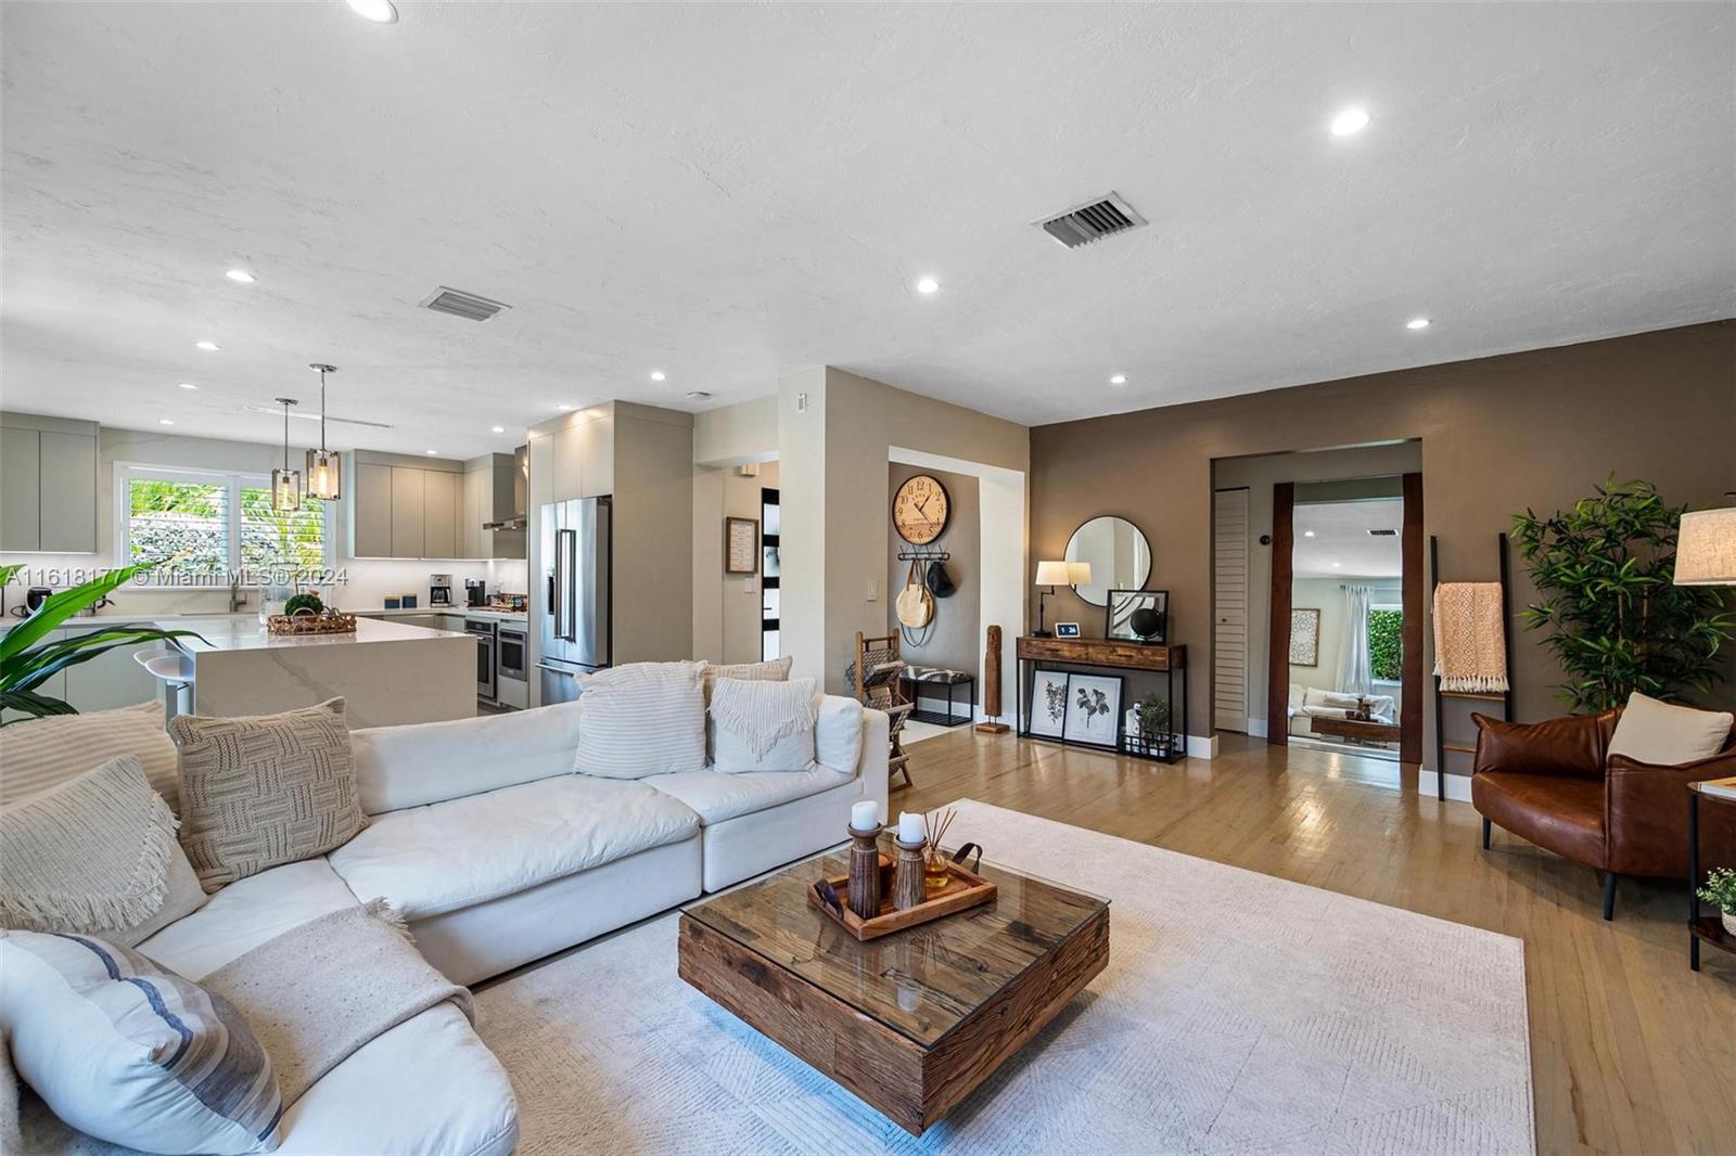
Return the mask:
[[1540,599],[1519,621],[1547,632],[1573,710],[1611,710],[1634,691],[1705,694],[1722,677],[1719,647],[1736,634],[1736,614],[1722,590],[1674,583],[1686,509],[1667,505],[1651,483],[1611,476],[1571,510],[1514,517]]

